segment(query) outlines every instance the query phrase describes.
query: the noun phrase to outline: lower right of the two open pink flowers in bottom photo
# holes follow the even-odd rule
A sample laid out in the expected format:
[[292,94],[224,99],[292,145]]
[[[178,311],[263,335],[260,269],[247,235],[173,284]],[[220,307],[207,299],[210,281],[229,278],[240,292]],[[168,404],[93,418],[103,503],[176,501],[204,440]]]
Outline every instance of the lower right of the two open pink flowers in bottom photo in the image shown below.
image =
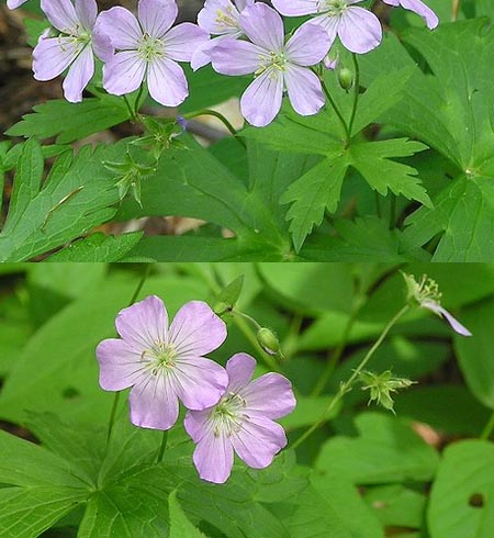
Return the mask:
[[220,402],[186,416],[186,430],[197,444],[194,464],[203,480],[224,483],[234,451],[247,466],[263,469],[287,446],[284,430],[273,419],[295,408],[292,385],[279,373],[251,381],[255,367],[249,355],[234,355],[226,365],[229,382]]

